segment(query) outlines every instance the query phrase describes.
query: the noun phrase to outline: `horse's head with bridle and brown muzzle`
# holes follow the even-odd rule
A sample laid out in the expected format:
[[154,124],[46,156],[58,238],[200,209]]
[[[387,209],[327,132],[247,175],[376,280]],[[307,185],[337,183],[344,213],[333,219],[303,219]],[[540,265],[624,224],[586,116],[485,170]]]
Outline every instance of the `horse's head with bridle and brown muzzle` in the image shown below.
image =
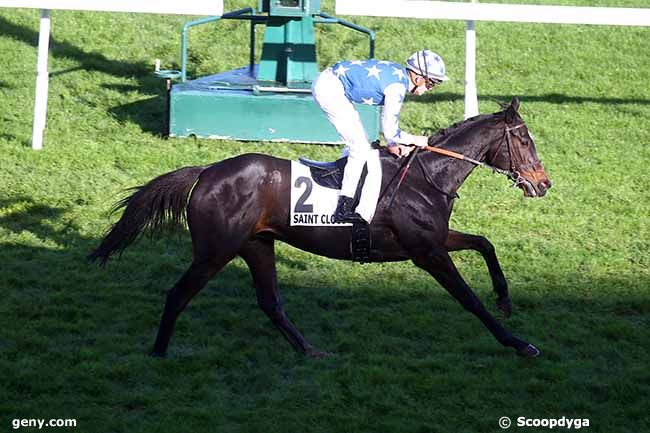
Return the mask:
[[512,173],[515,186],[526,197],[542,197],[551,187],[544,166],[537,156],[535,142],[519,116],[519,99],[514,98],[503,111],[503,140],[488,150],[486,162]]

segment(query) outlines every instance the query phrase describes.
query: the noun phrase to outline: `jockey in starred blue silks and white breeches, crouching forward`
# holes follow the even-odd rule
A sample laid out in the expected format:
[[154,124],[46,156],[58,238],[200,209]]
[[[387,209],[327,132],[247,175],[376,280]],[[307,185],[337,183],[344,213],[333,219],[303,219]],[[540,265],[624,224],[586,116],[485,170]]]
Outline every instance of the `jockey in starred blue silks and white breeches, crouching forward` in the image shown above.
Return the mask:
[[421,96],[448,79],[444,61],[429,50],[414,53],[406,61],[406,68],[385,60],[341,61],[316,78],[312,85],[314,99],[341,135],[345,143],[342,156],[348,157],[334,222],[363,221],[354,211],[354,195],[371,146],[352,103],[383,105],[381,127],[388,152],[401,158],[412,150],[409,145],[426,146],[428,140],[399,129],[406,92]]

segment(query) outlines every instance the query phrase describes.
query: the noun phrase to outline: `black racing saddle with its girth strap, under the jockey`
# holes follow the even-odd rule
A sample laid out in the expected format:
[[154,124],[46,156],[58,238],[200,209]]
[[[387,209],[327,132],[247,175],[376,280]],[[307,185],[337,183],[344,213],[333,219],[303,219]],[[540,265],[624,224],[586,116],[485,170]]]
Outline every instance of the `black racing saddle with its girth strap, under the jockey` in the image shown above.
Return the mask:
[[[345,166],[348,163],[348,158],[340,158],[332,162],[314,161],[307,158],[300,158],[300,163],[309,167],[311,177],[314,182],[325,187],[332,189],[341,189],[343,185],[343,173]],[[357,190],[354,194],[354,206],[359,204],[361,197],[361,190],[366,182],[368,175],[368,164],[364,164],[363,171],[361,172],[361,179],[357,185]],[[352,224],[352,232],[350,234],[350,251],[352,252],[352,261],[359,263],[368,263],[370,261],[370,228],[368,223],[355,222]]]

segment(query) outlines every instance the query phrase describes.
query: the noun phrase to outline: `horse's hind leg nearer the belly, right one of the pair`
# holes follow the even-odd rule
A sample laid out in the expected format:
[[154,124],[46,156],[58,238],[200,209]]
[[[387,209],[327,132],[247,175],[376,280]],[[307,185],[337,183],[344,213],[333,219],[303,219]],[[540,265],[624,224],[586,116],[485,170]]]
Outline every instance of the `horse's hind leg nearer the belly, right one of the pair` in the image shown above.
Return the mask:
[[282,307],[275,268],[272,239],[254,239],[246,243],[239,255],[248,265],[257,292],[257,303],[296,351],[321,358],[327,355],[314,349],[289,321]]

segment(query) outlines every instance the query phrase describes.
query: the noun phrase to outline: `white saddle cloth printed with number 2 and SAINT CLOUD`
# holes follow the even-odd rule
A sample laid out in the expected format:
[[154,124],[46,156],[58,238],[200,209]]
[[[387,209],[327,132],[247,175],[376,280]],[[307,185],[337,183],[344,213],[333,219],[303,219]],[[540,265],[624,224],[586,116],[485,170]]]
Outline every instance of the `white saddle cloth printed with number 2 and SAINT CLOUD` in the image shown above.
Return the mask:
[[[370,223],[381,189],[381,163],[379,151],[369,152],[368,173],[359,197],[356,212]],[[336,185],[334,183],[333,185]],[[340,189],[320,185],[312,176],[311,169],[298,161],[291,161],[291,215],[292,226],[351,226],[349,223],[333,223]]]

